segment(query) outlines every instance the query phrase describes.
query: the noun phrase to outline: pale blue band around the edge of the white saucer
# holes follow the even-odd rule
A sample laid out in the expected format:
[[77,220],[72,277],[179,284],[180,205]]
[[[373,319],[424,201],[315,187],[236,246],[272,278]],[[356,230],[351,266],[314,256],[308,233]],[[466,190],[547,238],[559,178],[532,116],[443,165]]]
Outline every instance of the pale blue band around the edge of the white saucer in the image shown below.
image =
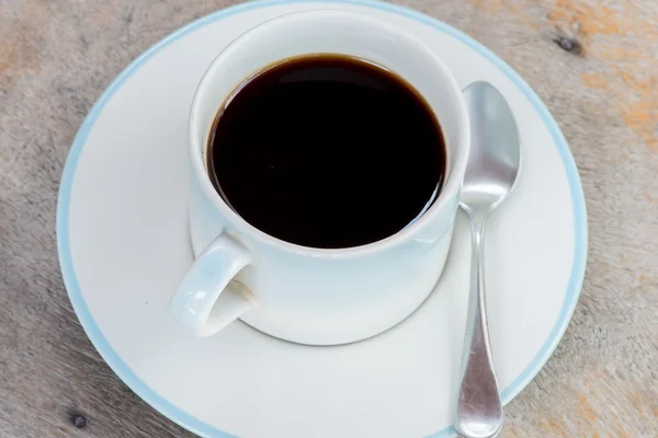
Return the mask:
[[[469,46],[478,54],[484,56],[487,60],[494,64],[499,70],[501,70],[514,85],[524,94],[524,96],[531,102],[542,122],[551,132],[553,142],[556,146],[563,164],[566,170],[567,181],[569,183],[569,192],[572,201],[574,211],[574,227],[575,227],[575,254],[574,264],[571,266],[571,273],[569,275],[569,283],[567,286],[567,292],[565,299],[555,322],[553,330],[548,337],[542,344],[537,355],[530,361],[530,364],[523,369],[523,371],[502,391],[501,396],[503,404],[509,403],[514,396],[517,396],[532,379],[544,367],[548,358],[553,355],[553,351],[559,344],[571,315],[580,297],[582,281],[585,277],[585,269],[587,264],[587,246],[588,246],[588,228],[587,228],[587,211],[585,204],[585,195],[582,192],[582,185],[580,183],[580,176],[576,162],[571,154],[571,151],[567,145],[567,141],[557,126],[555,119],[551,115],[548,108],[536,95],[536,93],[530,88],[530,85],[502,59],[500,59],[491,50],[476,42],[465,33],[441,22],[438,19],[426,15],[421,12],[413,11],[411,9],[384,3],[374,0],[257,0],[242,4],[231,5],[218,11],[215,11],[206,16],[203,16],[192,23],[180,27],[173,33],[169,34],[163,39],[159,41],[146,51],[134,59],[103,91],[102,95],[94,103],[93,107],[87,115],[80,129],[78,130],[73,143],[68,153],[64,172],[60,181],[58,200],[57,200],[57,251],[59,257],[60,269],[64,278],[64,283],[71,301],[73,311],[76,312],[80,324],[82,325],[87,336],[90,338],[94,348],[99,351],[103,360],[110,366],[110,368],[116,373],[120,379],[134,391],[139,397],[147,402],[156,411],[168,417],[170,420],[184,427],[185,429],[203,436],[212,438],[225,438],[235,437],[234,435],[220,430],[203,420],[194,417],[191,414],[182,411],[162,395],[155,392],[144,381],[141,381],[135,372],[122,360],[121,356],[110,345],[107,339],[103,336],[102,331],[97,325],[91,312],[83,299],[82,291],[78,285],[76,272],[73,268],[72,256],[70,252],[69,241],[69,204],[71,188],[75,182],[76,169],[80,154],[87,145],[89,134],[91,132],[98,117],[103,113],[105,105],[112,100],[113,95],[118,91],[124,82],[128,80],[145,62],[151,57],[157,55],[162,48],[167,47],[171,43],[179,38],[195,32],[205,25],[215,23],[219,20],[230,18],[231,15],[246,12],[253,9],[268,8],[279,4],[292,4],[292,3],[334,3],[334,4],[349,4],[366,8],[375,8],[385,12],[395,13],[415,20],[417,22],[430,25],[439,32],[447,34],[449,36],[456,38],[457,41]],[[431,437],[449,437],[453,436],[454,431],[452,427],[444,428],[431,435]]]

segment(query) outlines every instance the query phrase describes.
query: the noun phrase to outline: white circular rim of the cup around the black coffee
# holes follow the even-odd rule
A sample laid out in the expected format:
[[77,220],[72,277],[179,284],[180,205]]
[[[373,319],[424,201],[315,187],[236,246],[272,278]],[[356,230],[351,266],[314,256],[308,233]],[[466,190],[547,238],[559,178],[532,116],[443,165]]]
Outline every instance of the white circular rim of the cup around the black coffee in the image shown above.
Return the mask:
[[[204,132],[204,145],[198,145],[197,141],[197,127],[198,123],[196,120],[198,114],[198,107],[201,104],[201,100],[203,99],[203,90],[206,88],[208,82],[215,77],[215,72],[220,70],[220,66],[230,59],[230,51],[235,50],[237,46],[243,43],[247,38],[252,38],[259,33],[266,31],[269,27],[273,27],[275,25],[280,25],[283,22],[291,22],[294,20],[307,20],[311,18],[326,18],[326,16],[342,16],[350,18],[352,20],[360,20],[364,23],[364,25],[376,26],[382,31],[387,33],[396,34],[397,37],[406,38],[413,43],[419,50],[424,51],[424,55],[428,58],[428,65],[432,65],[434,69],[441,70],[445,79],[447,80],[447,85],[453,89],[456,93],[457,99],[454,104],[457,106],[456,113],[460,115],[458,117],[458,127],[457,130],[461,132],[458,145],[456,145],[457,149],[464,150],[464,153],[458,157],[458,160],[455,157],[451,157],[452,165],[450,172],[447,173],[447,177],[444,181],[443,187],[432,204],[430,208],[418,219],[416,219],[411,224],[405,227],[398,232],[386,237],[385,239],[367,243],[359,246],[350,246],[350,247],[341,247],[341,249],[322,249],[322,247],[314,247],[314,246],[304,246],[296,243],[287,242],[282,239],[275,238],[271,234],[268,234],[264,231],[259,230],[253,227],[247,220],[245,220],[240,215],[238,215],[232,208],[228,206],[228,204],[222,198],[222,196],[215,189],[215,186],[211,182],[211,177],[206,172],[206,166],[204,163],[204,151],[206,149],[205,142],[207,142],[207,138],[209,136],[209,130],[212,126],[203,127]],[[247,77],[247,76],[246,76]],[[238,87],[239,83],[234,84],[234,89]],[[231,89],[232,90],[232,89]],[[224,99],[228,99],[234,91],[229,92]],[[219,108],[219,105],[218,107]],[[258,239],[260,242],[263,242],[270,246],[277,247],[280,250],[284,250],[287,252],[296,253],[299,255],[309,255],[315,257],[328,257],[328,258],[338,258],[345,256],[355,256],[355,255],[364,255],[370,253],[376,253],[382,250],[397,246],[408,240],[411,240],[412,237],[417,233],[419,229],[421,229],[424,223],[434,219],[441,210],[446,207],[449,203],[449,195],[455,192],[461,192],[462,188],[462,180],[466,172],[466,164],[468,160],[468,149],[470,148],[470,129],[468,125],[468,113],[466,111],[466,103],[462,95],[462,90],[457,84],[456,79],[445,66],[443,60],[434,54],[422,41],[417,38],[415,35],[404,31],[394,24],[387,23],[383,20],[372,18],[361,12],[353,11],[341,11],[341,10],[332,10],[332,9],[311,9],[298,12],[286,13],[283,15],[279,15],[272,19],[269,19],[256,26],[247,30],[238,37],[236,37],[231,43],[229,43],[211,62],[208,68],[205,70],[196,90],[194,92],[194,97],[192,100],[192,105],[190,110],[190,116],[188,122],[188,130],[189,130],[189,148],[190,148],[190,157],[192,168],[194,170],[195,176],[200,182],[201,188],[204,192],[205,196],[213,203],[215,208],[217,208],[227,219],[228,221],[240,232],[243,232],[248,235],[252,235]]]

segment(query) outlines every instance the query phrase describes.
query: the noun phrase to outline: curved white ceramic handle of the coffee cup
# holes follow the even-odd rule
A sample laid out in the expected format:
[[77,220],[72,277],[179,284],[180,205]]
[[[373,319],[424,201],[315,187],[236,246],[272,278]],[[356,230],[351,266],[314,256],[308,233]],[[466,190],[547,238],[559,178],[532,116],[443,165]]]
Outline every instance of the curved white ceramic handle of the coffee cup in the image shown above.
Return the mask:
[[196,258],[171,300],[171,312],[200,337],[217,333],[256,304],[235,276],[253,263],[251,253],[227,234],[219,234]]

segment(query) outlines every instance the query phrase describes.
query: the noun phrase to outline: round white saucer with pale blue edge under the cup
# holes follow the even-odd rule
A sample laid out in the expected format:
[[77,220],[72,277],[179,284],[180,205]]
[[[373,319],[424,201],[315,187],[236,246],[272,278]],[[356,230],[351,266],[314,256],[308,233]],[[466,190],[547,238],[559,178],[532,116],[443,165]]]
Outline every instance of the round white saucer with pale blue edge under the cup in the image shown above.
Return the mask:
[[186,229],[186,120],[217,53],[285,12],[365,10],[421,37],[462,87],[494,83],[519,122],[518,189],[490,223],[487,286],[504,402],[538,372],[578,300],[587,253],[574,159],[535,93],[466,35],[400,7],[264,1],[218,11],[173,33],[107,88],[80,128],[57,211],[61,270],[92,343],[125,383],[172,420],[206,437],[452,436],[469,237],[458,218],[436,290],[407,321],[340,347],[308,347],[235,323],[205,339],[169,313],[192,263]]

